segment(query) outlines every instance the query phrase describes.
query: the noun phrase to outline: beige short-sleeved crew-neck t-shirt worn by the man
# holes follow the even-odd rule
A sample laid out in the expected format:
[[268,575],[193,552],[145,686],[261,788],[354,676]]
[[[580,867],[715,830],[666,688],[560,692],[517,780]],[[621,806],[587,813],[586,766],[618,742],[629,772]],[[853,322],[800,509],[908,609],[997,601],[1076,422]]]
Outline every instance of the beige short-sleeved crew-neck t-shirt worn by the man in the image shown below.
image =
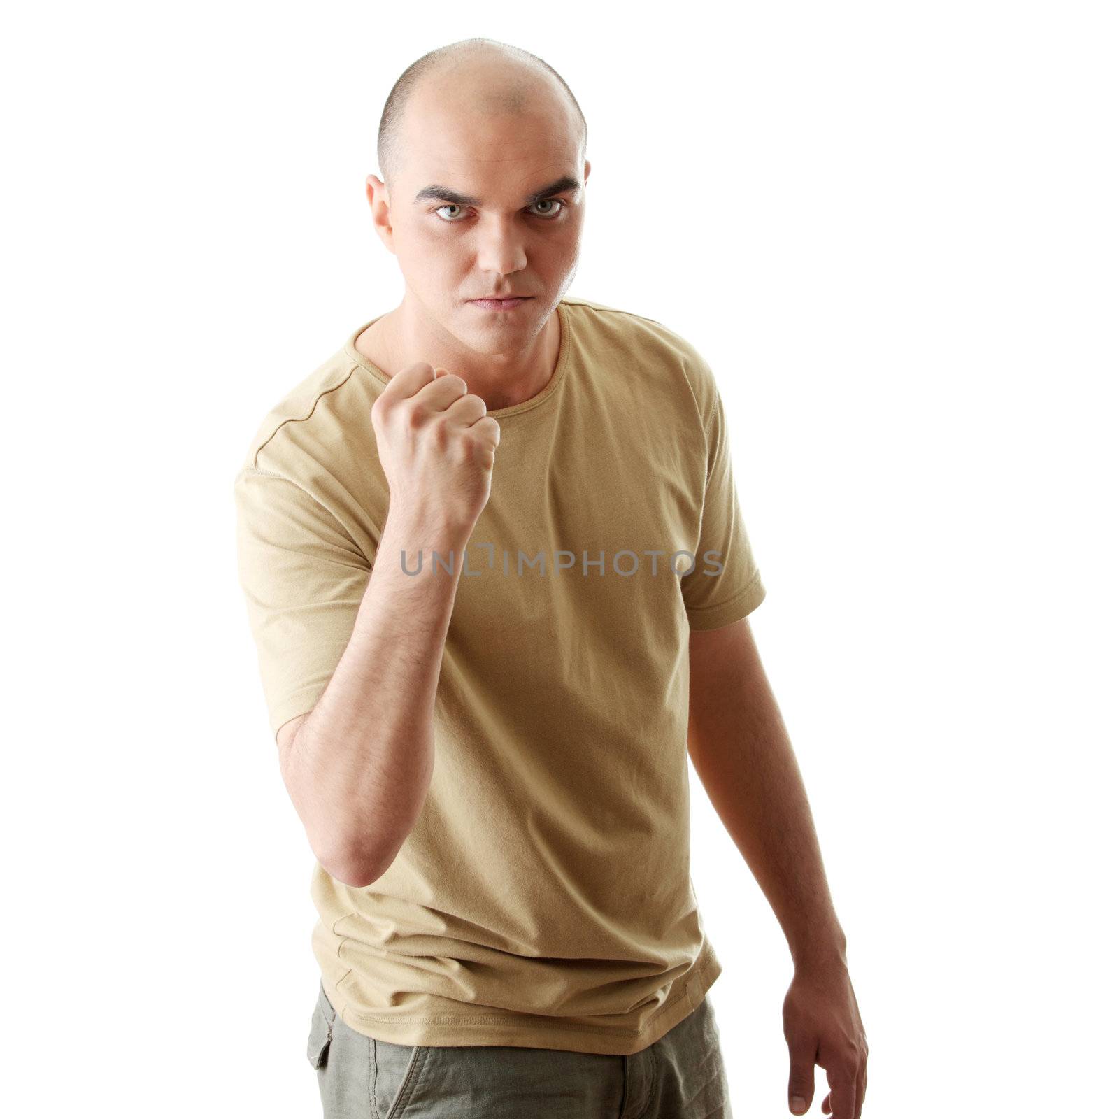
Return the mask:
[[[424,807],[372,885],[318,862],[311,880],[327,995],[382,1041],[636,1053],[722,971],[690,878],[688,633],[765,595],[723,405],[660,322],[558,308],[552,379],[489,413]],[[385,524],[367,326],[267,414],[235,480],[273,732],[330,679]]]

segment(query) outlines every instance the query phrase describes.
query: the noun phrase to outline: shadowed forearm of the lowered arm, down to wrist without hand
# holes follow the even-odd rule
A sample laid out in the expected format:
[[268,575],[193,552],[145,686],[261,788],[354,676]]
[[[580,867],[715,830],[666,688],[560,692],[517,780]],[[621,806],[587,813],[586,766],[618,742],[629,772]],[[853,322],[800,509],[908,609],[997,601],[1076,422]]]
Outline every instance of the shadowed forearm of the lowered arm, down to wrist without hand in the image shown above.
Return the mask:
[[759,662],[693,683],[688,750],[798,967],[846,962],[808,796]]

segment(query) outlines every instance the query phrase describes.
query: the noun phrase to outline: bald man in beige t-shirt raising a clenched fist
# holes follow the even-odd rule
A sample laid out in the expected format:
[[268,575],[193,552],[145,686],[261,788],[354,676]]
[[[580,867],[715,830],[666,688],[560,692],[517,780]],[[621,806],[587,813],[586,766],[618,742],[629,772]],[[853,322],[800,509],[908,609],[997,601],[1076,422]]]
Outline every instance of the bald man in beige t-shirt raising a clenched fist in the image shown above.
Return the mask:
[[[730,1115],[687,758],[796,963],[794,1113],[857,1116],[866,1043],[712,370],[566,297],[586,128],[487,39],[389,95],[367,196],[399,307],[264,420],[242,585],[317,856],[326,1115]],[[490,301],[487,301],[487,300]],[[496,302],[495,302],[496,301]]]

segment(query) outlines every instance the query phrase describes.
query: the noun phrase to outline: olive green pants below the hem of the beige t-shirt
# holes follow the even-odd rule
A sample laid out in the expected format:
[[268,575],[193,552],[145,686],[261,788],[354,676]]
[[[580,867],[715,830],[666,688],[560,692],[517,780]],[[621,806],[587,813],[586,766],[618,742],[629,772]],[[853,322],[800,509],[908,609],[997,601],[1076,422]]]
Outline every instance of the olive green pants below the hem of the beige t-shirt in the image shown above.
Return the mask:
[[346,1025],[319,984],[307,1056],[323,1119],[732,1119],[709,997],[629,1056],[397,1045]]

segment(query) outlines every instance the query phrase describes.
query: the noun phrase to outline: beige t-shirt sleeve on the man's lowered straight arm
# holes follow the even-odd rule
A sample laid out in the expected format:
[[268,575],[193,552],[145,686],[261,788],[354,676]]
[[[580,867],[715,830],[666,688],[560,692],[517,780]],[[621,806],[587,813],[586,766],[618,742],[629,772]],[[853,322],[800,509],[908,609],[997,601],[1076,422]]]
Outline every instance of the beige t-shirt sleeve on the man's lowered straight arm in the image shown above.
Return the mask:
[[688,626],[693,630],[709,630],[745,618],[761,604],[765,587],[739,505],[718,386],[697,354],[693,354],[689,364],[704,430],[707,477],[695,566],[680,579],[680,590]]

